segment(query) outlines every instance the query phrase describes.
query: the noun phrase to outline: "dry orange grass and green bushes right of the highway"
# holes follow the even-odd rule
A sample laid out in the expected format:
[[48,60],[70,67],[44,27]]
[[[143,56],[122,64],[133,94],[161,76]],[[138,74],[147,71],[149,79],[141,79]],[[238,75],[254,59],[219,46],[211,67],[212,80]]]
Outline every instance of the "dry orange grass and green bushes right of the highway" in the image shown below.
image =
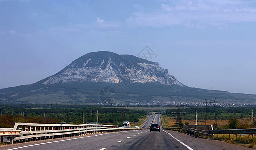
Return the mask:
[[[246,107],[233,107],[233,108],[216,108],[216,118],[215,121],[214,108],[208,108],[207,113],[207,125],[212,124],[214,127],[220,129],[246,129],[246,128],[256,128],[256,121],[253,122],[252,126],[252,109],[254,112],[255,108]],[[176,124],[177,119],[177,109],[167,109],[166,114],[162,115],[163,128],[169,127],[182,127],[183,125],[196,124],[195,110],[197,110],[197,124],[205,125],[205,108],[188,108],[180,109],[181,122]],[[256,119],[254,119],[256,120]],[[214,128],[217,129],[217,128]],[[202,136],[202,135],[200,135]],[[237,144],[241,146],[246,146],[254,148],[256,146],[256,135],[254,134],[215,134],[212,139],[225,141],[232,144]]]

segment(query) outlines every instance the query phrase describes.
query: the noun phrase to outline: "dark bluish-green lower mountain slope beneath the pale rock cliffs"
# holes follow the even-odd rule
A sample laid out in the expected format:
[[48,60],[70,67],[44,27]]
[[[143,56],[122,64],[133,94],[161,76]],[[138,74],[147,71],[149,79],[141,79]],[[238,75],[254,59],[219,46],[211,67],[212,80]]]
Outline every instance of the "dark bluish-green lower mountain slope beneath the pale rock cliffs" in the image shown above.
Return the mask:
[[44,85],[35,83],[0,89],[0,103],[27,104],[84,104],[103,103],[99,99],[99,91],[110,86],[116,91],[114,103],[147,103],[188,102],[199,103],[205,98],[218,98],[218,101],[228,103],[255,103],[256,95],[229,93],[226,91],[206,90],[178,85],[168,86],[160,83],[137,83],[124,85],[101,82],[73,82]]

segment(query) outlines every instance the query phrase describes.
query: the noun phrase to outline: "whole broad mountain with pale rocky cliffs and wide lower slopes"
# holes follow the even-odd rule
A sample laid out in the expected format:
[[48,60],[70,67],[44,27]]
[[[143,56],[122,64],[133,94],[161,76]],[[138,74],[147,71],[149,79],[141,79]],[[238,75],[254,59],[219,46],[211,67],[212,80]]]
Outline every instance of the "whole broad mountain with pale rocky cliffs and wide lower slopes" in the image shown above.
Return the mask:
[[157,62],[107,51],[85,54],[34,84],[0,89],[1,104],[202,103],[205,98],[256,102],[256,95],[185,86]]

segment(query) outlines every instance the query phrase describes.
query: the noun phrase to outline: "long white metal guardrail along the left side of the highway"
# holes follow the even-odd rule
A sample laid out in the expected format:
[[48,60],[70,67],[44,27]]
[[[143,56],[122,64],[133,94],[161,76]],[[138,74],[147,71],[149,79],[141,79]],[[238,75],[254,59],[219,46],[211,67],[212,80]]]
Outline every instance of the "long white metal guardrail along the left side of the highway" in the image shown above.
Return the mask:
[[118,131],[115,125],[96,124],[37,124],[37,123],[15,123],[13,129],[0,129],[1,142],[3,137],[10,137],[10,143],[35,141],[41,139],[52,139],[70,136],[81,136],[109,131]]

